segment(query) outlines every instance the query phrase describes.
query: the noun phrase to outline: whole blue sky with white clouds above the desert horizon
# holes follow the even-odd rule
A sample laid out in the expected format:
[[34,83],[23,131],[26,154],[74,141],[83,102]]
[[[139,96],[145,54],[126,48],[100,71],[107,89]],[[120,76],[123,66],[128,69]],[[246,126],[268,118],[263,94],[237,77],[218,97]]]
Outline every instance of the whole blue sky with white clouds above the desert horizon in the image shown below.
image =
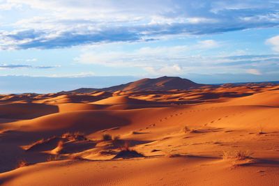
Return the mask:
[[278,81],[278,26],[277,0],[0,0],[0,93]]

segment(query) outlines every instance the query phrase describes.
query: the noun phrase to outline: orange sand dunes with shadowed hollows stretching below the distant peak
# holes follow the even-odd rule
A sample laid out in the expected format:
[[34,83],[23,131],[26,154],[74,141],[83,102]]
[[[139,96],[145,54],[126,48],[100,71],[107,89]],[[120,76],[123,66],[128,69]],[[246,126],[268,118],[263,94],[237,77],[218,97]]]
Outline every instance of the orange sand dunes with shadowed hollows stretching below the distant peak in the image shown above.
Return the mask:
[[156,85],[1,95],[0,185],[279,185],[279,86]]

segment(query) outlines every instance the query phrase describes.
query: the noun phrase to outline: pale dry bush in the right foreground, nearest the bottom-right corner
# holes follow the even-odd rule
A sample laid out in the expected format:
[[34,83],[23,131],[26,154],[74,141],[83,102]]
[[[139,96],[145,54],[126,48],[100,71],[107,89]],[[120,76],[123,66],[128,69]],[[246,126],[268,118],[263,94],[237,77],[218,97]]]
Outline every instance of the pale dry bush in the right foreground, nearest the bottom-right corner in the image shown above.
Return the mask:
[[252,158],[250,150],[223,151],[223,160],[247,160]]

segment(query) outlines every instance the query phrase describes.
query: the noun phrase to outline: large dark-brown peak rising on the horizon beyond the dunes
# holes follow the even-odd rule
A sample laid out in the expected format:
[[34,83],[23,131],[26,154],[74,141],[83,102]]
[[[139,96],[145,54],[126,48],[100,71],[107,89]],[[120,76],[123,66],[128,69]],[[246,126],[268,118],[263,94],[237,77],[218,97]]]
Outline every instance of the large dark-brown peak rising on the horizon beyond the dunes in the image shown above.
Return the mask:
[[169,91],[174,89],[188,90],[191,88],[199,88],[206,86],[205,84],[197,84],[189,79],[183,79],[181,77],[158,77],[156,79],[140,79],[128,84],[121,84],[118,86],[111,86],[108,88],[79,88],[74,91],[68,91],[63,93],[91,93],[93,91]]

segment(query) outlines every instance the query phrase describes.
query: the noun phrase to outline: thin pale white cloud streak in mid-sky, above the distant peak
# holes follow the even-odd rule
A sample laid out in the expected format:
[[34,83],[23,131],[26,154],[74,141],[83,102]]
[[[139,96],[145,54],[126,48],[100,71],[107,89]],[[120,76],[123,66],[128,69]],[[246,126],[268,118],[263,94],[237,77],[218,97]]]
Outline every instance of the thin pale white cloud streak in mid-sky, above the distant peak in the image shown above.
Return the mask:
[[[105,45],[106,46],[106,45]],[[104,47],[105,47],[104,46]],[[111,67],[160,67],[165,65],[195,65],[202,63],[200,57],[190,56],[190,52],[204,52],[222,46],[216,40],[199,40],[193,45],[175,45],[169,47],[141,47],[130,52],[123,50],[99,51],[100,47],[86,49],[75,58],[76,63],[97,64]],[[202,59],[204,61],[204,59]]]

